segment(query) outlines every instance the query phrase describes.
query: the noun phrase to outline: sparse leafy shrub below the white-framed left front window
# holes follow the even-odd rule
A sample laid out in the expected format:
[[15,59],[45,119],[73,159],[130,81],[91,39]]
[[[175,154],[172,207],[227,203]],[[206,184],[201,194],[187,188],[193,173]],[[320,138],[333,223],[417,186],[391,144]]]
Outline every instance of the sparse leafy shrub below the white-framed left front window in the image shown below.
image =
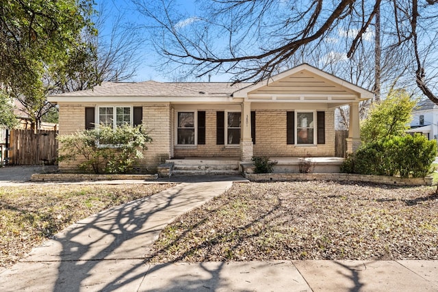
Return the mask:
[[116,129],[101,125],[99,129],[60,135],[57,139],[62,145],[59,161],[78,161],[79,170],[94,174],[131,171],[143,157],[146,143],[152,141],[144,128],[128,124]]

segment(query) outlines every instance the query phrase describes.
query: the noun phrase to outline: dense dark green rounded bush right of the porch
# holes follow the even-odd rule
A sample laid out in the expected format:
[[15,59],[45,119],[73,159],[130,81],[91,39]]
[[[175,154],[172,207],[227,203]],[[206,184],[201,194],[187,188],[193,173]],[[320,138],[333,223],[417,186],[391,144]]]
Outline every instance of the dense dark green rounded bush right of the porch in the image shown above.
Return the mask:
[[437,155],[437,142],[424,135],[394,136],[364,144],[349,155],[342,172],[407,177],[424,177]]

